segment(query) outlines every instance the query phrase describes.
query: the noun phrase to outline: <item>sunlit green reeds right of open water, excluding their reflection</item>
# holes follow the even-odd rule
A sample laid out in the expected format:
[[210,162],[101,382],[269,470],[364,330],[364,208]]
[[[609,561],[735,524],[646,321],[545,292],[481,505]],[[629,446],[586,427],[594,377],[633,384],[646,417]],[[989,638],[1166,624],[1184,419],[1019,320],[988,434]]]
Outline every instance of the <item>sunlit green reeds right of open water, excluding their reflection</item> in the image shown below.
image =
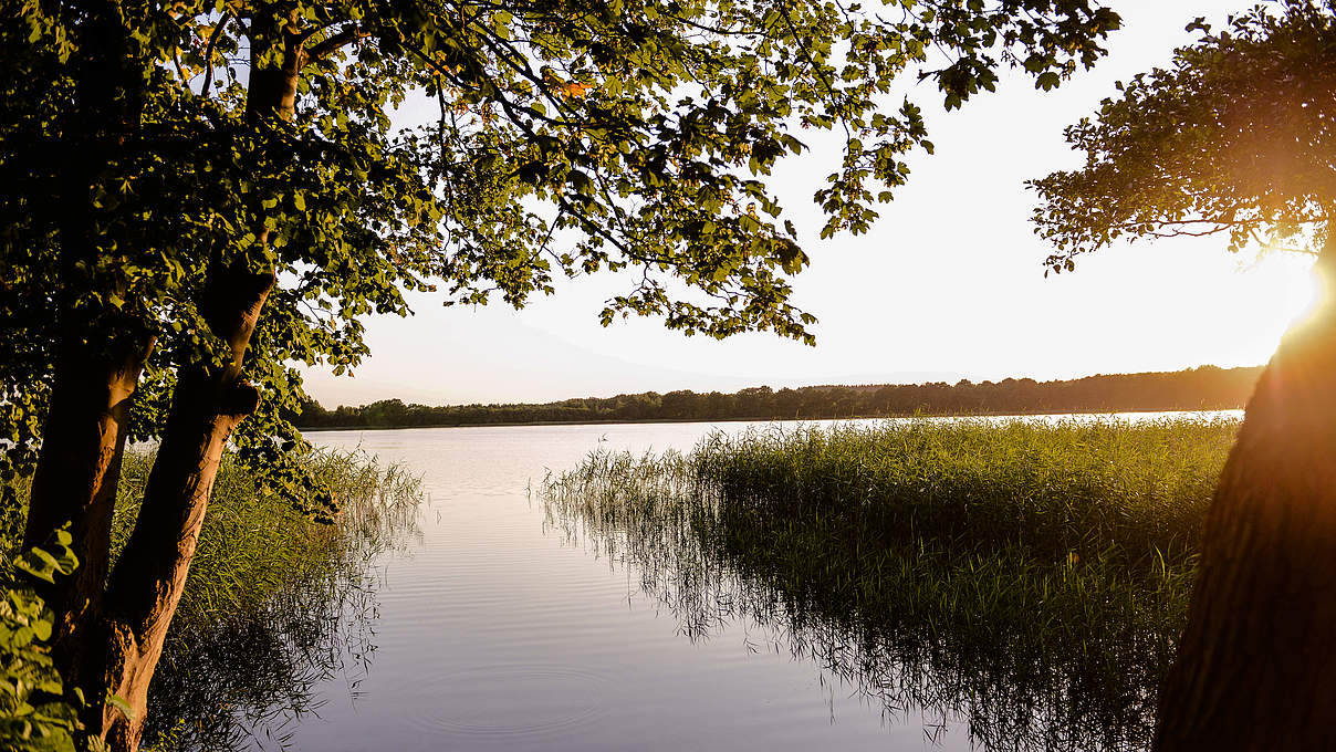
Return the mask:
[[716,434],[695,472],[729,512],[820,514],[954,549],[1152,564],[1196,549],[1233,421],[883,423]]

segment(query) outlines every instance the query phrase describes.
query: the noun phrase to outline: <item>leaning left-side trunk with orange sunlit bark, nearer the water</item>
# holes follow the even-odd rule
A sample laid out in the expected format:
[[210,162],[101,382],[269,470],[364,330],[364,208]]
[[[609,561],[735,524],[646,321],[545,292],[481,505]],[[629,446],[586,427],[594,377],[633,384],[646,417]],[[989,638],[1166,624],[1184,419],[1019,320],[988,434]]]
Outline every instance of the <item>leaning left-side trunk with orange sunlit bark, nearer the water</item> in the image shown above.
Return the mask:
[[[255,37],[247,119],[253,124],[269,118],[289,119],[295,108],[306,55],[295,19],[279,19],[266,13],[251,19]],[[266,61],[262,55],[275,48],[281,55]],[[269,231],[262,212],[257,226],[257,243],[263,247]],[[227,343],[231,361],[223,366],[179,367],[143,506],[107,584],[104,684],[130,704],[134,717],[108,705],[96,728],[118,752],[139,748],[148,687],[186,586],[218,465],[232,431],[259,401],[259,393],[244,378],[243,363],[275,276],[273,271],[250,268],[244,258],[215,263],[199,311],[210,330]]]

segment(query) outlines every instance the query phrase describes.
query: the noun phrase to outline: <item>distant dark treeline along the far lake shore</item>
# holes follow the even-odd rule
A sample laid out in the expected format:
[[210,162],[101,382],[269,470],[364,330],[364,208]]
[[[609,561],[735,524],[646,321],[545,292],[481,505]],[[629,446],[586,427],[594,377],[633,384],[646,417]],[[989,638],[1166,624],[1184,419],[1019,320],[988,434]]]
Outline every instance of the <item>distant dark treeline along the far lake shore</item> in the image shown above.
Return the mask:
[[382,399],[326,410],[309,402],[297,419],[306,429],[480,426],[496,423],[597,423],[625,421],[728,421],[884,415],[987,415],[1114,413],[1129,410],[1224,410],[1242,407],[1261,366],[1202,366],[1174,373],[1093,375],[1073,381],[1030,378],[955,385],[768,386],[719,391],[669,391],[587,397],[545,405],[405,405]]

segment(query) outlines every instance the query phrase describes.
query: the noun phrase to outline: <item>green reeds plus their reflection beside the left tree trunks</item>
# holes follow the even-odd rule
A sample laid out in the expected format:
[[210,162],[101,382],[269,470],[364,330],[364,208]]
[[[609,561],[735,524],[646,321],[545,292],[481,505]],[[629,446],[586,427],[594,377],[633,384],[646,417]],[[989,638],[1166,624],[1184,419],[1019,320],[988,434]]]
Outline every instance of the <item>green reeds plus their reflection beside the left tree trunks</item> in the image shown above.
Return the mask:
[[154,679],[148,748],[290,748],[321,685],[357,695],[375,652],[375,560],[420,534],[420,482],[358,453],[313,462],[342,504],[333,525],[266,498],[239,467],[220,476]]

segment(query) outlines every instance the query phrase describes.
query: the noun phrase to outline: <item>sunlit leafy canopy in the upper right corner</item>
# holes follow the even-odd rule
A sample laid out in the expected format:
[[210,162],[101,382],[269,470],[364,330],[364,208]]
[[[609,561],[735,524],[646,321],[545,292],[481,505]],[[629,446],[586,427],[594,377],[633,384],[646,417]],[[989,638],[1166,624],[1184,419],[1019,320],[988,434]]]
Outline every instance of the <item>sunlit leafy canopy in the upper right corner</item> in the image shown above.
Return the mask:
[[1125,84],[1096,118],[1066,131],[1081,170],[1033,180],[1047,264],[1118,238],[1216,235],[1320,247],[1336,216],[1336,27],[1331,0],[1257,7],[1173,63]]

